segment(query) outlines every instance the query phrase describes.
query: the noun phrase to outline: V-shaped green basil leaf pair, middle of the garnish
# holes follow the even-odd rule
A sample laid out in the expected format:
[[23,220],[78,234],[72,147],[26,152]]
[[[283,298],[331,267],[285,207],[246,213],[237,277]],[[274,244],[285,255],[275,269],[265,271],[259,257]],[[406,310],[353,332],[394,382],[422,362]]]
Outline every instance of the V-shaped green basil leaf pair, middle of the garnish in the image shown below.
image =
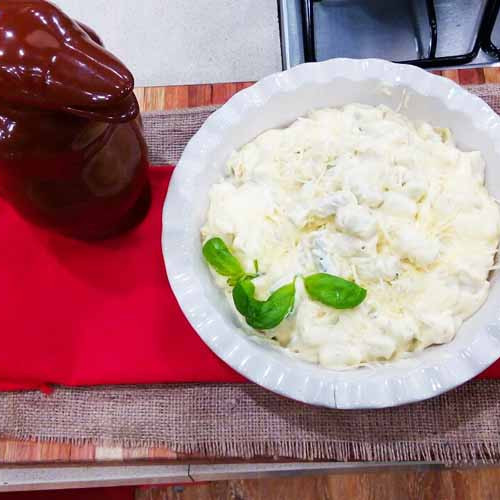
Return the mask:
[[255,285],[250,279],[241,280],[233,288],[234,305],[252,328],[271,330],[276,328],[293,309],[295,281],[282,286],[265,301],[257,300],[254,295]]

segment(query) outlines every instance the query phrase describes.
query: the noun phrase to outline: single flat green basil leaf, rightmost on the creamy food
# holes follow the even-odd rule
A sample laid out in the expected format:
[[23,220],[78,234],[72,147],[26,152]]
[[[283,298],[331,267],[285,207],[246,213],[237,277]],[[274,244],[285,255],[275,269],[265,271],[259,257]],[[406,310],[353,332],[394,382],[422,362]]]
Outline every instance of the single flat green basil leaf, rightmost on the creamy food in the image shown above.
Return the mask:
[[359,306],[367,293],[352,281],[326,273],[304,278],[304,285],[311,299],[335,309],[352,309]]

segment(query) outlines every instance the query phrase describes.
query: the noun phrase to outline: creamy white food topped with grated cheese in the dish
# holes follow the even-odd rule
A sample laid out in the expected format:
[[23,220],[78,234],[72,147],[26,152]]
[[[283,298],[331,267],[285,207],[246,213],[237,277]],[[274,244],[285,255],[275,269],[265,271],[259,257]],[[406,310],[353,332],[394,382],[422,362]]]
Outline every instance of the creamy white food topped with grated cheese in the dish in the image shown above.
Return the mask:
[[[292,314],[259,334],[335,369],[392,360],[450,342],[487,297],[500,216],[484,169],[449,130],[389,108],[319,110],[232,155],[202,238],[224,238],[248,271],[258,261],[259,298],[299,277]],[[312,301],[300,277],[317,272],[355,281],[366,300]]]

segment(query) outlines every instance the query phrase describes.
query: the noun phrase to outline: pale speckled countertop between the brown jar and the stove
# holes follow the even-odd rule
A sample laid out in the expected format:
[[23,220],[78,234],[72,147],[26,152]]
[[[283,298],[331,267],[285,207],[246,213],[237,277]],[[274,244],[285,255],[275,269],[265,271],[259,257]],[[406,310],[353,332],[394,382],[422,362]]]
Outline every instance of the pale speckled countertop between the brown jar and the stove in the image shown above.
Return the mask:
[[92,26],[137,86],[252,81],[281,70],[276,0],[52,0]]

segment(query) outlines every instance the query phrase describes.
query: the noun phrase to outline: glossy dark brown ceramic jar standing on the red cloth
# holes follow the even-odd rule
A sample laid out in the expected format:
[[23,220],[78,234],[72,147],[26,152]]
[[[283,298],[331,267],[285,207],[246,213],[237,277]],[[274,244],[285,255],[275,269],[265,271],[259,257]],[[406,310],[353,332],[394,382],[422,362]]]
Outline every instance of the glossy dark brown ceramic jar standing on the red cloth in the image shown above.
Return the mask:
[[133,87],[90,28],[43,0],[1,0],[0,195],[80,239],[139,222],[149,184]]

